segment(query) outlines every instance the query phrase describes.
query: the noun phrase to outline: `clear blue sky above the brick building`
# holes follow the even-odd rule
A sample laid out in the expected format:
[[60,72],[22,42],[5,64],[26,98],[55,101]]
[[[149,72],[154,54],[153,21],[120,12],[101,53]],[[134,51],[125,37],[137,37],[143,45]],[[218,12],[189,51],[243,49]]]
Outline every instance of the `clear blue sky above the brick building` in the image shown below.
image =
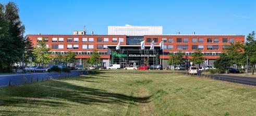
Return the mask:
[[[256,31],[255,0],[97,1],[13,0],[26,34],[107,34],[108,25],[163,26],[163,34],[236,34]],[[8,0],[1,0],[1,4]]]

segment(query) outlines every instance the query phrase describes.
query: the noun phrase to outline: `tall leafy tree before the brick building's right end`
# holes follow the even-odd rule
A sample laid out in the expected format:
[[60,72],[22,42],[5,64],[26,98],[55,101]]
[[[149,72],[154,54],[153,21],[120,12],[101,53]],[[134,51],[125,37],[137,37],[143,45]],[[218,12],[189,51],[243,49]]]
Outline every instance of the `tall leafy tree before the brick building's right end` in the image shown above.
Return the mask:
[[246,57],[245,57],[245,45],[240,42],[234,42],[231,43],[230,46],[225,48],[225,53],[227,53],[227,56],[231,59],[233,64],[236,64],[237,66],[244,65],[246,63]]

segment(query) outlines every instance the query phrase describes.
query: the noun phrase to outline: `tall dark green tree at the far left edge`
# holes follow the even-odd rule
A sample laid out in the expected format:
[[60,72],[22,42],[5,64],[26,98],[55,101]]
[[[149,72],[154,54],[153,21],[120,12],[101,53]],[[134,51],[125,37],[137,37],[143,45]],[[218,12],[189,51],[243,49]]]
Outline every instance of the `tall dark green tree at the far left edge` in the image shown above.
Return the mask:
[[19,9],[13,2],[0,4],[0,72],[9,72],[20,62],[25,51],[25,26],[19,18]]

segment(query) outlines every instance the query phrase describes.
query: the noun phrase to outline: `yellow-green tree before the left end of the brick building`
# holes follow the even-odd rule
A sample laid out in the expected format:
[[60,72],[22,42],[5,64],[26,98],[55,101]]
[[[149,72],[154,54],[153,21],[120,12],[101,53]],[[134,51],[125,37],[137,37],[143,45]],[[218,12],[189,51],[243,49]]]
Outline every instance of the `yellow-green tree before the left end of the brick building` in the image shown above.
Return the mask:
[[35,56],[34,62],[39,65],[45,65],[49,63],[52,59],[51,55],[48,53],[50,48],[47,48],[45,45],[44,38],[38,42],[38,47],[33,50]]

